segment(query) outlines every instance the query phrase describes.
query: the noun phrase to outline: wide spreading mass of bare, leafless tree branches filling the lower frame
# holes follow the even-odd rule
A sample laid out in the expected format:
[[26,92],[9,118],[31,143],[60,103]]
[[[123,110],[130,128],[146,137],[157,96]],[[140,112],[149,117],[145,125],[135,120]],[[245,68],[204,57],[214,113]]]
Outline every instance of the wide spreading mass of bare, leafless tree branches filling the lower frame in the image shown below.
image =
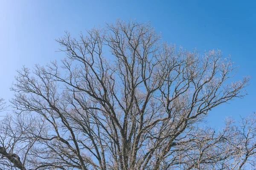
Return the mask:
[[[254,165],[255,115],[199,127],[246,95],[250,77],[221,51],[176,49],[150,23],[117,20],[57,40],[67,58],[18,71],[0,126],[2,169],[243,169]],[[105,52],[104,52],[105,51]],[[231,83],[230,83],[231,82]]]

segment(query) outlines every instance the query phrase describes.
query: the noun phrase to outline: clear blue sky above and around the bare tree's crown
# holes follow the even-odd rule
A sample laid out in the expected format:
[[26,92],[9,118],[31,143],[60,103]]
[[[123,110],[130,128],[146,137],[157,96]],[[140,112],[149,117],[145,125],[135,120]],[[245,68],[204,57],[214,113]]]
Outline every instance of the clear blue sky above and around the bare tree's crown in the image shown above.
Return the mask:
[[0,97],[12,98],[9,88],[22,65],[32,68],[64,57],[55,53],[54,40],[65,30],[76,36],[117,18],[150,20],[164,40],[177,46],[231,54],[240,66],[235,79],[252,76],[248,96],[210,113],[210,124],[218,127],[225,116],[237,119],[256,111],[255,6],[254,0],[0,0]]

